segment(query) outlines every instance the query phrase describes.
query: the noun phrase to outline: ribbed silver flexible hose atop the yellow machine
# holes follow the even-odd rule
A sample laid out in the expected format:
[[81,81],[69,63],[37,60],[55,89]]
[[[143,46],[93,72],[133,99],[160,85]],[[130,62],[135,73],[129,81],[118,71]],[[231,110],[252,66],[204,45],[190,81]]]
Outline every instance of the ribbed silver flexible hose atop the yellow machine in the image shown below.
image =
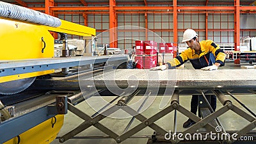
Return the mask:
[[47,25],[50,27],[59,27],[61,25],[59,18],[15,4],[4,3],[3,1],[0,1],[0,17],[31,22],[33,24]]

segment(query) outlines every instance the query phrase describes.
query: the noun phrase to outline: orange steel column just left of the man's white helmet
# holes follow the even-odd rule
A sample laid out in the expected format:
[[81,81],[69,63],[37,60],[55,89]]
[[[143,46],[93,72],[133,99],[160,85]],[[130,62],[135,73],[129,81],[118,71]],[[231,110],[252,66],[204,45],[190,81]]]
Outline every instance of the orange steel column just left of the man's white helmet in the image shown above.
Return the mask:
[[[173,49],[178,48],[178,17],[177,17],[177,0],[173,0]],[[173,54],[173,57],[176,57],[176,54]]]

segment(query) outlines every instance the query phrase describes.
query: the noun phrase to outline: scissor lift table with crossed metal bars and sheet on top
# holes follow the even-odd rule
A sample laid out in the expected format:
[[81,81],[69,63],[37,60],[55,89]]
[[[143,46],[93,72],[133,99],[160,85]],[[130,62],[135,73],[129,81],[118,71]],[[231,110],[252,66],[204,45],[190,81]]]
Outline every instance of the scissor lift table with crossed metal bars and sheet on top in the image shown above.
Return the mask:
[[[248,113],[244,112],[241,108],[234,105],[232,101],[230,101],[230,99],[228,99],[227,96],[225,96],[225,94],[223,93],[223,92],[227,92],[227,94],[230,94],[231,96],[233,96],[230,92],[241,93],[244,90],[246,90],[247,92],[249,92],[248,90],[250,90],[252,94],[255,94],[256,93],[255,92],[256,77],[255,75],[253,75],[253,73],[255,72],[256,72],[255,69],[247,69],[247,70],[222,69],[218,71],[200,71],[200,70],[181,69],[181,70],[167,70],[167,71],[157,71],[157,72],[140,70],[140,69],[118,69],[114,72],[115,76],[113,76],[113,71],[112,71],[112,72],[104,73],[102,75],[94,76],[93,80],[90,78],[85,78],[83,80],[84,85],[92,85],[93,83],[96,87],[101,87],[101,88],[106,87],[104,84],[106,81],[113,81],[119,87],[127,87],[127,86],[129,87],[132,85],[131,83],[138,82],[139,89],[145,88],[145,87],[160,87],[159,89],[161,89],[161,87],[166,87],[166,84],[168,83],[175,83],[173,87],[170,85],[168,86],[168,89],[173,89],[173,90],[175,89],[175,90],[172,94],[170,105],[164,108],[163,110],[161,110],[161,112],[158,112],[152,117],[148,117],[148,118],[141,115],[141,113],[139,112],[140,110],[137,111],[127,106],[127,103],[130,101],[130,99],[134,97],[134,95],[138,94],[138,92],[136,91],[133,94],[131,94],[131,96],[122,97],[118,101],[118,103],[111,106],[111,108],[104,110],[104,112],[101,112],[102,110],[100,110],[99,112],[95,113],[93,117],[91,117],[90,115],[87,115],[84,112],[81,112],[81,110],[77,109],[72,103],[68,103],[68,110],[70,110],[70,112],[76,114],[78,117],[83,119],[84,122],[81,125],[77,126],[75,129],[73,129],[72,131],[61,136],[60,142],[67,141],[68,139],[72,138],[73,136],[76,136],[76,134],[81,133],[82,131],[84,131],[90,126],[94,126],[100,131],[102,131],[103,133],[108,134],[109,136],[108,138],[113,138],[114,140],[116,140],[117,143],[120,143],[126,140],[127,138],[132,138],[134,134],[138,133],[145,127],[150,127],[154,129],[156,133],[152,135],[152,138],[148,143],[160,142],[160,141],[166,142],[166,140],[164,140],[164,134],[168,133],[168,131],[165,131],[162,127],[157,126],[157,124],[155,124],[154,122],[156,122],[156,120],[161,119],[161,117],[164,117],[164,115],[167,115],[168,113],[173,111],[175,112],[175,117],[174,117],[175,120],[174,120],[174,126],[173,126],[174,133],[177,133],[177,130],[176,130],[177,111],[196,122],[195,125],[189,127],[188,129],[186,129],[186,131],[182,132],[183,134],[182,138],[184,138],[184,135],[186,133],[196,133],[196,131],[200,128],[204,128],[206,129],[206,131],[201,131],[198,133],[204,134],[207,131],[212,131],[212,133],[216,133],[216,126],[221,126],[221,123],[218,121],[218,117],[220,117],[221,115],[223,115],[224,113],[230,110],[237,113],[237,115],[240,115],[241,117],[243,117],[244,119],[250,122],[250,124],[248,124],[247,126],[244,126],[243,129],[232,132],[232,133],[237,133],[236,138],[238,139],[241,136],[244,136],[250,133],[250,134],[253,134],[253,137],[255,139],[255,132],[252,131],[252,129],[256,127],[255,114],[252,111],[250,111],[250,113],[252,113],[252,115],[254,116],[253,117],[252,115],[249,115]],[[196,75],[198,73],[200,73],[200,75]],[[146,78],[147,76],[145,76],[145,75],[150,76],[150,75],[156,75],[156,74],[159,75],[157,79],[154,79],[152,77],[148,79]],[[119,76],[122,75],[122,78],[117,77],[118,75]],[[129,82],[130,85],[127,85],[127,77],[131,75],[136,75],[138,80],[134,80],[134,81],[130,80]],[[168,75],[169,75],[169,79],[168,79]],[[176,76],[170,77],[170,75],[176,75]],[[115,79],[113,77],[115,77]],[[148,85],[148,81],[150,81],[151,84],[154,82],[159,83],[159,85],[154,85],[154,84]],[[72,83],[71,85],[74,85],[74,84],[75,83]],[[108,87],[109,86],[111,85],[108,85]],[[58,85],[56,85],[56,87],[58,87]],[[195,92],[195,93],[202,94],[204,99],[206,99],[204,92],[206,92],[207,90],[208,91],[211,90],[210,94],[215,94],[218,97],[221,104],[223,104],[223,106],[220,109],[216,110],[216,112],[210,113],[209,115],[204,117],[204,119],[197,117],[193,113],[189,112],[189,110],[184,108],[184,106],[179,104],[180,94],[188,93],[188,92],[191,92],[190,94],[193,94],[193,92]],[[148,97],[150,96],[150,93],[151,92],[148,92],[144,96]],[[144,101],[147,101],[147,97],[145,98]],[[113,101],[115,100],[116,99],[114,99]],[[104,108],[106,108],[106,106],[104,106]],[[134,115],[133,119],[138,119],[140,120],[141,123],[129,129],[128,131],[127,129],[129,127],[126,127],[126,130],[124,131],[125,133],[120,135],[116,134],[114,131],[111,131],[106,126],[103,126],[102,124],[99,123],[100,120],[108,117],[112,113],[115,113],[119,109],[129,113],[129,115]],[[216,119],[218,122],[218,125],[216,126],[213,126],[214,124],[212,125],[211,123],[212,120],[214,119]],[[128,126],[131,126],[131,124],[128,124]],[[221,134],[227,133],[227,131],[225,131],[225,129],[222,129],[220,133]],[[207,138],[207,140],[210,140],[210,139]],[[174,140],[170,140],[169,142],[179,143],[182,141],[180,141],[176,137],[174,138]],[[233,143],[234,140],[227,140],[224,142]],[[241,142],[242,141],[239,141],[239,143]]]

